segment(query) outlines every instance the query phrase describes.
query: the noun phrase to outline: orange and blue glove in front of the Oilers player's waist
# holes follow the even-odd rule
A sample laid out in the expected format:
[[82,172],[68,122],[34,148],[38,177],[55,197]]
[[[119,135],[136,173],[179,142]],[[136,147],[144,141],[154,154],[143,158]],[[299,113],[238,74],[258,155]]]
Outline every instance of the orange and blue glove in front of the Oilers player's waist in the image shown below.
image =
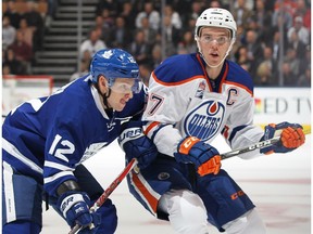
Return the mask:
[[221,156],[217,150],[195,136],[183,139],[174,156],[178,162],[195,164],[201,177],[210,173],[217,174],[221,169]]

